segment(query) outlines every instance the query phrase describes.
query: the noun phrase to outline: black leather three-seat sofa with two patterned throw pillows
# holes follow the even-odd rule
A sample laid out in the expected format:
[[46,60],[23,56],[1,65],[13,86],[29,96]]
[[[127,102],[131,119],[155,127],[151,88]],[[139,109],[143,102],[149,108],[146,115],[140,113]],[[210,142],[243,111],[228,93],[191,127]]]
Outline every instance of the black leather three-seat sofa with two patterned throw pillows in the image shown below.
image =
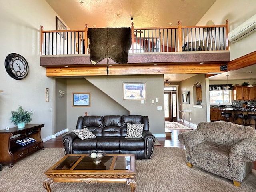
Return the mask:
[[136,159],[150,159],[154,141],[148,116],[141,115],[81,116],[76,129],[62,138],[65,154],[102,150],[107,154],[135,154]]

